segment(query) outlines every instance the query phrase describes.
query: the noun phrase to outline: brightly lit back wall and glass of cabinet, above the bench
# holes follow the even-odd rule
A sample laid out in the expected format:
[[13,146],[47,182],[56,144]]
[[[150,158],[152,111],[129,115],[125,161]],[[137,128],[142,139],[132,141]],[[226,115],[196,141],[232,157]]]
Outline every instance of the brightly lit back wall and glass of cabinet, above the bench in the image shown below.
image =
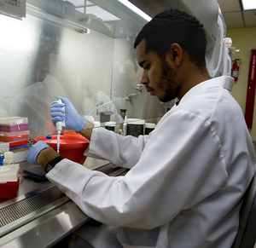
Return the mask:
[[137,86],[133,43],[143,17],[117,0],[27,0],[23,16],[3,8],[24,2],[1,1],[0,118],[28,118],[32,139],[55,134],[49,106],[60,96],[100,125],[122,122],[120,109],[157,123],[172,106]]

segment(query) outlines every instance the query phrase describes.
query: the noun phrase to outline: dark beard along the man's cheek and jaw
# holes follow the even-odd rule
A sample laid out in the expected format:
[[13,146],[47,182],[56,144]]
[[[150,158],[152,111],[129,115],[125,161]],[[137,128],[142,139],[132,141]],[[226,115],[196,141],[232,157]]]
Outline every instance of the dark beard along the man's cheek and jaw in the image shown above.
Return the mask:
[[162,102],[172,101],[177,97],[177,72],[172,70],[172,67],[165,59],[161,60],[162,72],[157,85],[160,89],[163,89],[165,95],[160,97]]

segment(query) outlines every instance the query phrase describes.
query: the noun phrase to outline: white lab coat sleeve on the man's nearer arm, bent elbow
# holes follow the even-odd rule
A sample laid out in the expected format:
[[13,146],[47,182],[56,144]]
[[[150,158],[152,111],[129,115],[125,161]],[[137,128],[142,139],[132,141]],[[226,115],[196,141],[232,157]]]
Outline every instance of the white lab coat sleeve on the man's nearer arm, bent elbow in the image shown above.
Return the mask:
[[144,229],[171,222],[226,182],[221,144],[206,119],[174,112],[151,137],[125,176],[109,177],[63,159],[47,177],[97,221]]

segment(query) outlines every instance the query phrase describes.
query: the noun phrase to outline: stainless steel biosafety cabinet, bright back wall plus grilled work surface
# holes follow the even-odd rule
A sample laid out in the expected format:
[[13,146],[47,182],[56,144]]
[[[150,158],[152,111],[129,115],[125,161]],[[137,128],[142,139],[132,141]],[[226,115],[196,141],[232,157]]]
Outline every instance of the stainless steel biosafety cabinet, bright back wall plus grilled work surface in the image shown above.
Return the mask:
[[[0,118],[27,118],[29,141],[56,134],[57,97],[96,126],[115,122],[115,131],[125,116],[156,124],[172,107],[137,85],[133,43],[147,20],[119,1],[4,0],[0,13]],[[125,173],[108,161],[84,166]],[[20,171],[31,167],[20,162]],[[17,198],[0,199],[0,246],[50,247],[88,220],[53,184],[24,176]]]

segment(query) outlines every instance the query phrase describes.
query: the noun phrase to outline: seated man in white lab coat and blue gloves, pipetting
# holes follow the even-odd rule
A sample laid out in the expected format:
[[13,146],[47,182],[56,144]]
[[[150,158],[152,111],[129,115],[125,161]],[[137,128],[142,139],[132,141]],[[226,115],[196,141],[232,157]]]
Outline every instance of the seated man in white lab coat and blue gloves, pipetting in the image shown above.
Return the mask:
[[[94,247],[231,247],[242,196],[254,175],[253,145],[230,95],[233,79],[208,75],[206,44],[199,21],[172,9],[138,34],[141,83],[160,101],[179,99],[149,136],[92,130],[63,99],[67,129],[90,140],[84,154],[131,169],[125,176],[90,171],[58,157],[44,142],[27,154],[30,163],[55,165],[49,181],[86,215],[119,227],[115,245],[90,240]],[[54,124],[64,118],[61,107],[51,106]],[[90,239],[89,234],[81,236]]]

